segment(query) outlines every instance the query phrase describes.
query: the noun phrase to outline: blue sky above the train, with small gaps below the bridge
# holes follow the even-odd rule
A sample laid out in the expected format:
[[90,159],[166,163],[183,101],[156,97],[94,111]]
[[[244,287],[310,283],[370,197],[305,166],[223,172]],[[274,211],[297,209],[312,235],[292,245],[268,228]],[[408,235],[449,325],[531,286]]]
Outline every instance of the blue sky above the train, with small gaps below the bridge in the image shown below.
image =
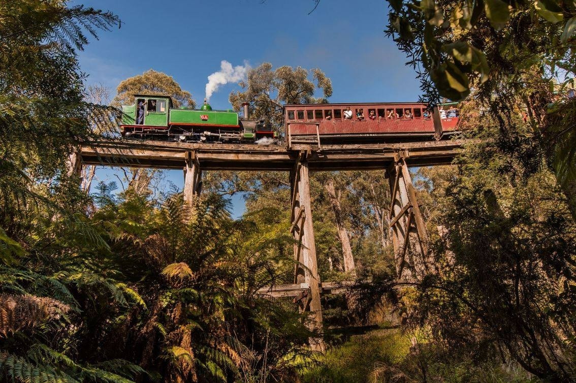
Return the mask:
[[[201,103],[208,75],[227,60],[234,66],[318,67],[332,80],[334,103],[418,100],[414,71],[382,32],[388,18],[384,1],[321,0],[311,14],[313,0],[74,3],[111,10],[122,19],[122,28],[100,32],[100,40],[79,56],[86,84],[101,83],[112,96],[123,79],[154,69],[172,75]],[[236,89],[223,86],[210,104],[228,109],[228,94]],[[106,169],[97,177],[117,180]],[[180,171],[167,171],[165,179],[183,184]],[[234,215],[242,206],[241,197],[234,198]]]

